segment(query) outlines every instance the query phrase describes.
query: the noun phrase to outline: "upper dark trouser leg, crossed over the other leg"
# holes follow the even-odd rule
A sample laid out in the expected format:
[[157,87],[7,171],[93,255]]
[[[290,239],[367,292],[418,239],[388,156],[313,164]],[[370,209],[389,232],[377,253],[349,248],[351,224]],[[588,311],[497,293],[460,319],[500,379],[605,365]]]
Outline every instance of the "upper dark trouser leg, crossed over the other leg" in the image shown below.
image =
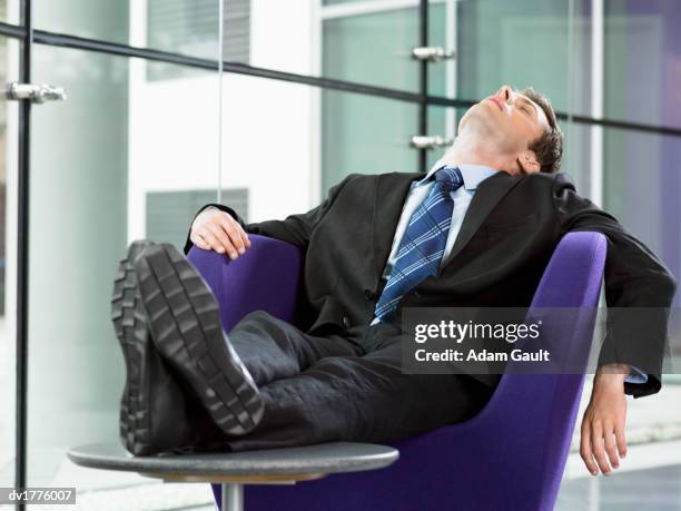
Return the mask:
[[228,337],[258,386],[295,376],[324,357],[364,353],[347,338],[307,335],[263,311],[246,315]]

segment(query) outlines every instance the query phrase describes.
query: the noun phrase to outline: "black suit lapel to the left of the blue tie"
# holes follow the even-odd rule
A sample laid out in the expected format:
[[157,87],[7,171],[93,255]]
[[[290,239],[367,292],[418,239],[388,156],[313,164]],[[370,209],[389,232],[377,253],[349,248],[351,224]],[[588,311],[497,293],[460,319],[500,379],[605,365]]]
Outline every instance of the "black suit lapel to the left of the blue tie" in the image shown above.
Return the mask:
[[402,215],[409,187],[414,180],[423,179],[423,174],[394,173],[378,176],[374,197],[374,264],[381,277],[391,254],[395,229]]

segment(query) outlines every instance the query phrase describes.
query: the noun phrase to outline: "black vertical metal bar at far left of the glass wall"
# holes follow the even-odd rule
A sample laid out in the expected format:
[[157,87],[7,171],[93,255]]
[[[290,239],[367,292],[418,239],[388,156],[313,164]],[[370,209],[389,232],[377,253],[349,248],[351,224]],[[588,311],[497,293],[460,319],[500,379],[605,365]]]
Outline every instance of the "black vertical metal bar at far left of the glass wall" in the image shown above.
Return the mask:
[[[31,49],[33,26],[31,0],[21,0],[20,23],[26,30],[20,56],[19,76],[23,83],[31,81]],[[19,161],[18,161],[18,226],[17,226],[17,430],[14,458],[14,487],[27,485],[28,431],[28,258],[29,258],[29,169],[30,169],[30,101],[19,104]],[[23,503],[17,504],[22,511]]]

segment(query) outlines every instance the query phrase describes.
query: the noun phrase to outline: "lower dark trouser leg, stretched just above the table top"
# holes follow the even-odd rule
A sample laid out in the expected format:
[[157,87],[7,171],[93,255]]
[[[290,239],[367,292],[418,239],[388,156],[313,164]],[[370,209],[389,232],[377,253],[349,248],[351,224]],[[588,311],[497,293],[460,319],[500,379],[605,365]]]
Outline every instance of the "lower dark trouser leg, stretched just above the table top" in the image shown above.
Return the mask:
[[475,415],[492,389],[466,375],[403,374],[399,342],[318,360],[260,389],[265,412],[233,451],[328,441],[395,442]]

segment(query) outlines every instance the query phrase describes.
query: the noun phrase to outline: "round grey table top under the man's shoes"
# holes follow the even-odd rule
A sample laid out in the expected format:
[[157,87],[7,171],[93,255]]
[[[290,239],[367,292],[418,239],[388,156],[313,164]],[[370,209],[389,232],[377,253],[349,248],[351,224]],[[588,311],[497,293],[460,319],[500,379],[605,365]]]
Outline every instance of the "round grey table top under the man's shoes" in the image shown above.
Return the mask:
[[68,456],[81,466],[139,472],[167,480],[248,482],[305,480],[382,469],[394,463],[399,453],[386,445],[333,442],[247,452],[134,456],[120,444],[108,443],[75,448]]

